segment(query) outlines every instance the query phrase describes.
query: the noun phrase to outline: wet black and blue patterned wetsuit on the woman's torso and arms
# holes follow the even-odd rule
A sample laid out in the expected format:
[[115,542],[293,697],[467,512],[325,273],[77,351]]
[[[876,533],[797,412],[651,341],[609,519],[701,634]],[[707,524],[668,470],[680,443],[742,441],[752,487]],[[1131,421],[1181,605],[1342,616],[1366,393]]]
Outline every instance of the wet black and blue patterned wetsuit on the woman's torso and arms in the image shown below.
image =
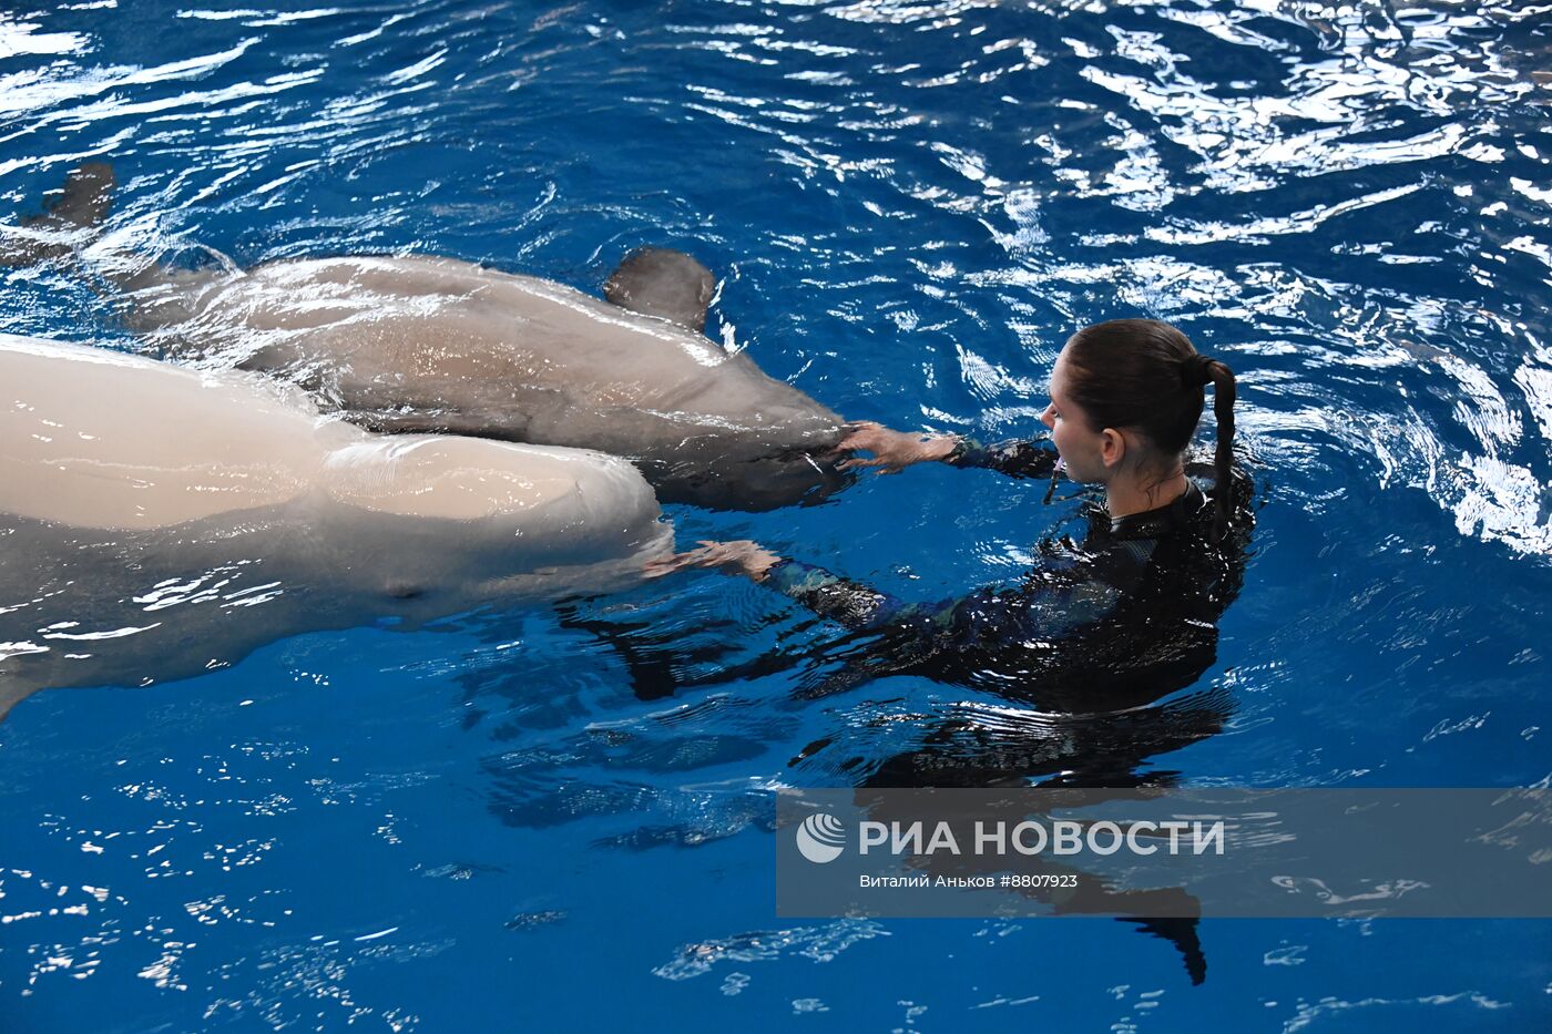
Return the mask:
[[[1055,460],[1038,439],[964,442],[948,463],[1049,477]],[[1111,519],[1085,503],[1082,542],[1040,543],[1038,565],[1015,587],[908,604],[799,560],[776,564],[764,584],[866,641],[850,651],[846,685],[911,672],[1060,710],[1135,706],[1190,685],[1212,663],[1215,621],[1240,584],[1249,492],[1235,492],[1229,534],[1214,545],[1211,467],[1189,472],[1180,498],[1147,512]]]

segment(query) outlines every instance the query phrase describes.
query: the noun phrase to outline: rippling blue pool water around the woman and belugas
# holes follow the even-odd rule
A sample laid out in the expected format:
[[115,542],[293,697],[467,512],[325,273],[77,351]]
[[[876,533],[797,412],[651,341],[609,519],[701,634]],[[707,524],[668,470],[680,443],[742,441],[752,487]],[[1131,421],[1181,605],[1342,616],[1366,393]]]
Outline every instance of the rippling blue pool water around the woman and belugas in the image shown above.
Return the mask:
[[[1135,770],[1552,775],[1552,8],[327,3],[9,5],[0,206],[99,157],[110,239],[174,262],[431,253],[598,290],[680,247],[723,276],[711,335],[773,376],[986,438],[1038,430],[1077,326],[1170,320],[1238,373],[1262,509],[1193,688],[1232,716]],[[0,331],[130,345],[90,276],[5,276]],[[1072,512],[1043,491],[934,467],[670,515],[927,599],[1015,576]],[[25,700],[0,1029],[1552,1025],[1544,922],[1206,921],[1192,986],[1108,919],[776,919],[773,787],[855,782],[947,717],[1060,719],[725,677],[832,630],[711,573],[585,610]]]

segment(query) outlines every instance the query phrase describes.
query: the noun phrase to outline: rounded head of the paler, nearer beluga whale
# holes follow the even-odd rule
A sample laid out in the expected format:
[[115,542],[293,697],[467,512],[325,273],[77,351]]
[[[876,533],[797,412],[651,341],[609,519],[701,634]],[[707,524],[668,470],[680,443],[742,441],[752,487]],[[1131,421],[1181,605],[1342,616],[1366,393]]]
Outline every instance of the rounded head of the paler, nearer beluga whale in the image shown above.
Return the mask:
[[590,450],[374,438],[331,453],[326,478],[332,564],[405,616],[607,592],[672,548],[650,486]]

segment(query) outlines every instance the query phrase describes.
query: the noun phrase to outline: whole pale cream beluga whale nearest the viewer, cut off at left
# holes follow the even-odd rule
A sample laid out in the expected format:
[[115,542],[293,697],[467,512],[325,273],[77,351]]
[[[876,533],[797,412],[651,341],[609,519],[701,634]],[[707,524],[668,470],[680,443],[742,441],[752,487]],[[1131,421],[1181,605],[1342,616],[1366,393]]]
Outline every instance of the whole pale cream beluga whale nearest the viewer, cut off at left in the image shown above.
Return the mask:
[[672,546],[624,460],[371,435],[293,388],[0,335],[0,716],[298,632],[635,584]]

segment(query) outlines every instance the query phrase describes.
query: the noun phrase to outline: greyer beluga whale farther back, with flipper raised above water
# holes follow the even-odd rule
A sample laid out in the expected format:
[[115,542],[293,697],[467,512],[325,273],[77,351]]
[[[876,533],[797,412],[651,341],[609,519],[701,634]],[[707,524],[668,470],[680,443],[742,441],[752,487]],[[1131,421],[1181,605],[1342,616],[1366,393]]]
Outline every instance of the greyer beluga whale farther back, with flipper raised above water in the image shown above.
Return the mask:
[[[110,189],[106,165],[82,166],[33,225],[92,227]],[[841,418],[702,334],[714,279],[680,252],[632,253],[607,300],[430,256],[141,262],[116,279],[155,354],[262,371],[369,430],[596,449],[630,458],[663,501],[711,508],[810,501],[849,480]]]

